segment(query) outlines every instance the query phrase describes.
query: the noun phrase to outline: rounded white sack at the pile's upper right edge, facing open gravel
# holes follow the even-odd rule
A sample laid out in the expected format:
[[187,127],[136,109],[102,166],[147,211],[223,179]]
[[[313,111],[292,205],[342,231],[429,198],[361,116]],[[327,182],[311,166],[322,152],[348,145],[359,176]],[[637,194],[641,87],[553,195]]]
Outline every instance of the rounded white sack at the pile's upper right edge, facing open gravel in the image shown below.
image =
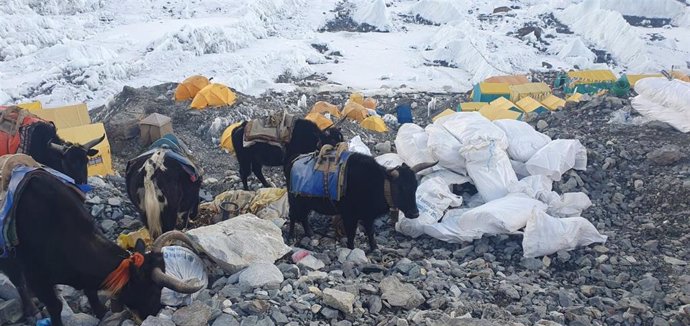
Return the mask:
[[537,151],[526,163],[531,175],[546,175],[553,181],[570,169],[587,169],[587,149],[576,139],[557,139]]

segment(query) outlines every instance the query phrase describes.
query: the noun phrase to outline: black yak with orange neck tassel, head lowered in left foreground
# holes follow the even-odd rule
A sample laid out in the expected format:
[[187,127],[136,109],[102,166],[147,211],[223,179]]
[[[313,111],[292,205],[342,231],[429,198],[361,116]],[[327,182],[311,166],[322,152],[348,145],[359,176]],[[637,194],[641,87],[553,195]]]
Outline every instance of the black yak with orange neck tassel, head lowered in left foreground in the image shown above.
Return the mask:
[[173,231],[156,239],[149,253],[130,253],[108,240],[94,225],[83,205],[83,194],[50,172],[28,172],[14,195],[13,216],[18,244],[0,267],[20,293],[27,317],[37,310],[27,289],[46,305],[53,326],[62,326],[62,302],[55,285],[84,290],[91,309],[102,317],[105,307],[98,290],[108,291],[141,318],[161,309],[163,287],[180,293],[195,293],[203,284],[183,282],[165,274],[163,245],[179,240],[194,248],[183,233]]

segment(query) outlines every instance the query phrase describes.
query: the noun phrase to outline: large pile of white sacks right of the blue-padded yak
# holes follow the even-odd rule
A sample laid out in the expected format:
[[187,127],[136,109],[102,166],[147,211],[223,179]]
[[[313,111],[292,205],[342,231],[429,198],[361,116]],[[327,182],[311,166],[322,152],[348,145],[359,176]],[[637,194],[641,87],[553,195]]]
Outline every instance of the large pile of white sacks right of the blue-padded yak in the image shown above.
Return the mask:
[[[606,241],[580,217],[592,204],[586,194],[552,191],[568,170],[586,169],[587,150],[578,140],[551,140],[522,121],[491,122],[476,112],[458,112],[426,128],[404,124],[395,146],[397,154],[377,161],[388,168],[438,161],[420,172],[419,218],[401,213],[398,232],[453,243],[522,233],[525,257]],[[463,203],[451,189],[467,182],[478,193]]]

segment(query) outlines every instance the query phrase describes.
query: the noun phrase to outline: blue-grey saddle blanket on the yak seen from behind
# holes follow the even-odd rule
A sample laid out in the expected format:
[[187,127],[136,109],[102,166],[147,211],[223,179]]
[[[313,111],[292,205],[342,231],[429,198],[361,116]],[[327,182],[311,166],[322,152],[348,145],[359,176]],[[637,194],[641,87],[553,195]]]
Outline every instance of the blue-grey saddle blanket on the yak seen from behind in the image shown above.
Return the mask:
[[184,143],[175,135],[167,134],[153,142],[146,152],[143,152],[139,154],[139,156],[129,160],[127,162],[126,171],[129,171],[132,163],[139,160],[148,160],[149,156],[151,156],[151,154],[153,154],[155,151],[165,150],[165,157],[172,158],[179,162],[182,169],[189,174],[189,179],[192,182],[196,182],[199,176],[203,174],[203,170],[199,168],[198,165],[192,160],[185,148],[186,146]]

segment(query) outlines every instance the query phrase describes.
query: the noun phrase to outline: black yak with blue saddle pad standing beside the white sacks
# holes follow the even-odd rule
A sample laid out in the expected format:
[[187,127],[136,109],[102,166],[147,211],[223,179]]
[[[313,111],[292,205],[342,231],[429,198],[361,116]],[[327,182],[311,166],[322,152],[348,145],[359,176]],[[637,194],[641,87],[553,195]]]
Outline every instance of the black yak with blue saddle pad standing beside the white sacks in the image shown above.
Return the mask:
[[[303,156],[290,163],[289,178],[297,177],[294,164]],[[354,249],[357,225],[361,222],[369,239],[369,249],[376,250],[374,238],[374,220],[391,209],[401,210],[407,218],[417,218],[419,211],[415,199],[417,176],[430,165],[413,168],[403,164],[387,170],[368,155],[350,153],[344,167],[344,192],[339,200],[328,197],[304,196],[294,189],[288,180],[288,201],[290,204],[290,229],[288,238],[294,235],[295,223],[301,222],[304,233],[311,236],[313,231],[308,216],[311,211],[324,215],[341,215],[347,235],[347,247]]]

